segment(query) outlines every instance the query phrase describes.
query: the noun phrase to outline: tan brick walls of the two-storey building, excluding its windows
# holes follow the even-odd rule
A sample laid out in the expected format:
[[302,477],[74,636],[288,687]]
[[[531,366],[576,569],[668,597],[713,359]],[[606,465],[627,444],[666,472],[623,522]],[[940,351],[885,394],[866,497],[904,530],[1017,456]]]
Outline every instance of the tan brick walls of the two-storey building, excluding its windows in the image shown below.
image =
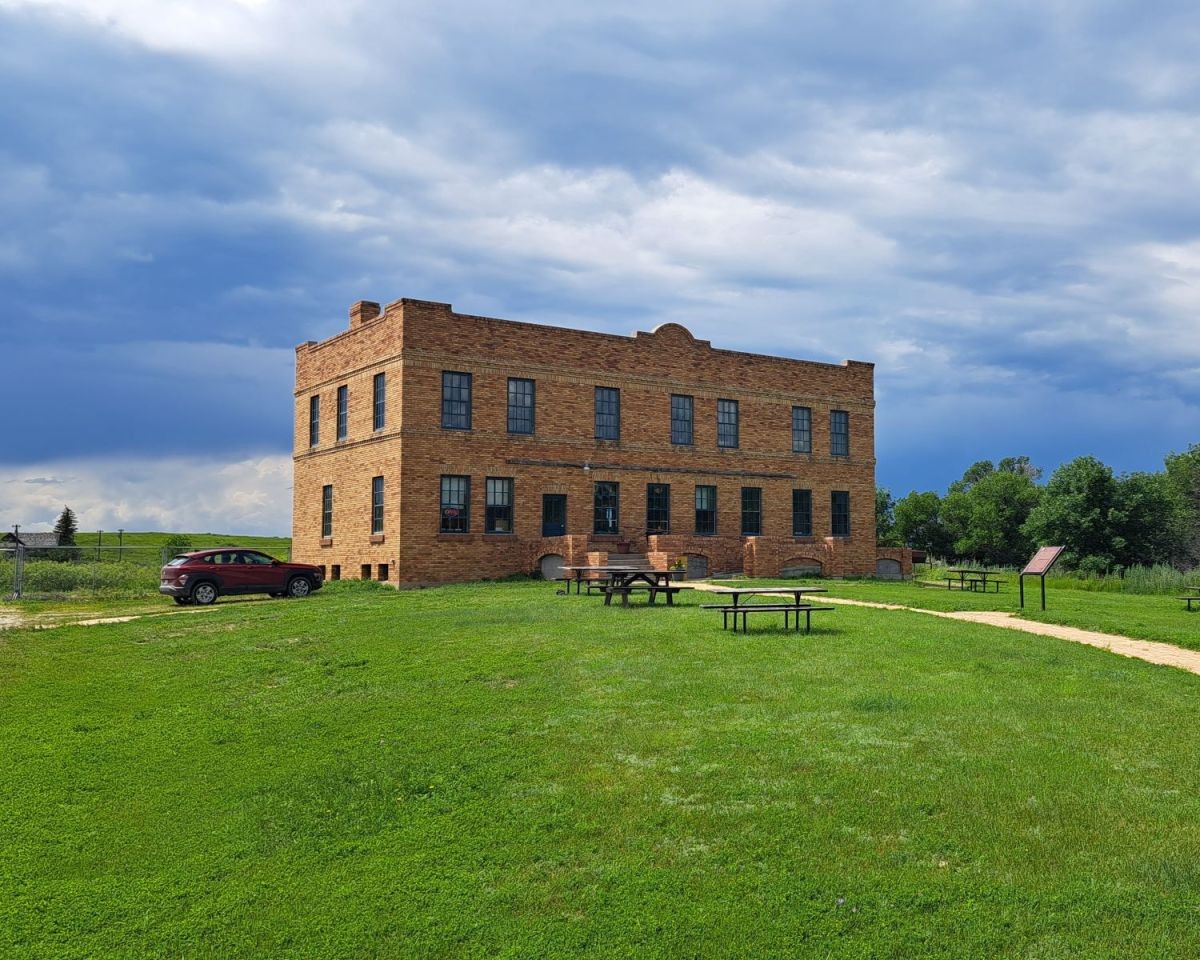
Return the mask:
[[[829,574],[875,568],[874,368],[714,350],[667,324],[634,337],[454,313],[448,305],[400,300],[377,319],[355,305],[350,330],[296,350],[294,551],[298,559],[359,576],[389,563],[401,583],[434,583],[532,570],[540,556],[578,560],[614,550],[592,535],[593,482],[620,484],[622,539],[636,552],[703,553],[713,570],[774,575],[796,556],[822,559]],[[440,426],[442,372],[473,377],[472,430]],[[371,379],[388,373],[388,422],[372,431]],[[506,431],[509,377],[536,382],[535,434]],[[334,439],[336,390],[349,388],[346,443]],[[401,389],[403,384],[403,389]],[[620,439],[594,439],[595,386],[620,389]],[[308,449],[308,397],[322,397],[322,438]],[[695,397],[695,438],[672,446],[671,395]],[[739,448],[716,446],[716,401],[739,404]],[[792,406],[812,409],[812,452],[791,450]],[[829,412],[851,420],[851,456],[829,455]],[[517,462],[514,462],[517,461]],[[587,467],[587,469],[584,469]],[[371,478],[385,476],[385,540],[370,538]],[[439,534],[439,480],[472,479],[470,533]],[[485,479],[514,478],[514,533],[484,534]],[[335,487],[332,542],[320,544],[320,486]],[[647,538],[646,486],[671,485],[670,538]],[[694,536],[694,490],[718,487],[718,535]],[[763,490],[763,530],[740,530],[743,486]],[[791,536],[793,488],[812,491],[815,538]],[[827,539],[829,492],[851,494],[847,540]],[[541,497],[568,497],[568,534],[544,541]],[[650,541],[658,541],[652,547]],[[751,546],[752,544],[752,546]],[[564,553],[562,547],[568,551]],[[748,570],[749,572],[749,570]]]

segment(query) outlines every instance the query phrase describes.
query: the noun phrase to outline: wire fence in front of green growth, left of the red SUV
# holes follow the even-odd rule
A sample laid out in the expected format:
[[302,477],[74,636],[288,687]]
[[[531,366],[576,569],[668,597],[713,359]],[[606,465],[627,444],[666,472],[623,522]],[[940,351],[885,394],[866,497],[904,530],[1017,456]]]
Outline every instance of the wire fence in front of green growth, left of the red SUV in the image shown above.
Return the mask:
[[0,599],[155,596],[158,593],[160,568],[178,552],[161,546],[30,547],[4,544],[0,545]]

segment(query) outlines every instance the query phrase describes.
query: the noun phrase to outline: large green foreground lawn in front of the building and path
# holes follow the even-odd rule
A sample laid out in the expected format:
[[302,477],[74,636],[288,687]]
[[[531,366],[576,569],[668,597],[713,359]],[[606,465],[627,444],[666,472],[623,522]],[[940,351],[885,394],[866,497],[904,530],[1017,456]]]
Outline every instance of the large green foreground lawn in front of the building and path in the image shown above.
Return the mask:
[[0,956],[1200,954],[1200,678],[706,599],[0,634]]

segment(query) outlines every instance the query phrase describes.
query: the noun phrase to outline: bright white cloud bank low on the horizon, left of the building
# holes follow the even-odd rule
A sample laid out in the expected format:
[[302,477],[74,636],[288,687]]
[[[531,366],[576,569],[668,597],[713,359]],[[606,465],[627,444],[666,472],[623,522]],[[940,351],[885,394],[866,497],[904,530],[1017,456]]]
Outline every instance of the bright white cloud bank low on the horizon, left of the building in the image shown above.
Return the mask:
[[292,457],[114,457],[0,466],[5,529],[52,529],[62,506],[82,529],[289,535]]

